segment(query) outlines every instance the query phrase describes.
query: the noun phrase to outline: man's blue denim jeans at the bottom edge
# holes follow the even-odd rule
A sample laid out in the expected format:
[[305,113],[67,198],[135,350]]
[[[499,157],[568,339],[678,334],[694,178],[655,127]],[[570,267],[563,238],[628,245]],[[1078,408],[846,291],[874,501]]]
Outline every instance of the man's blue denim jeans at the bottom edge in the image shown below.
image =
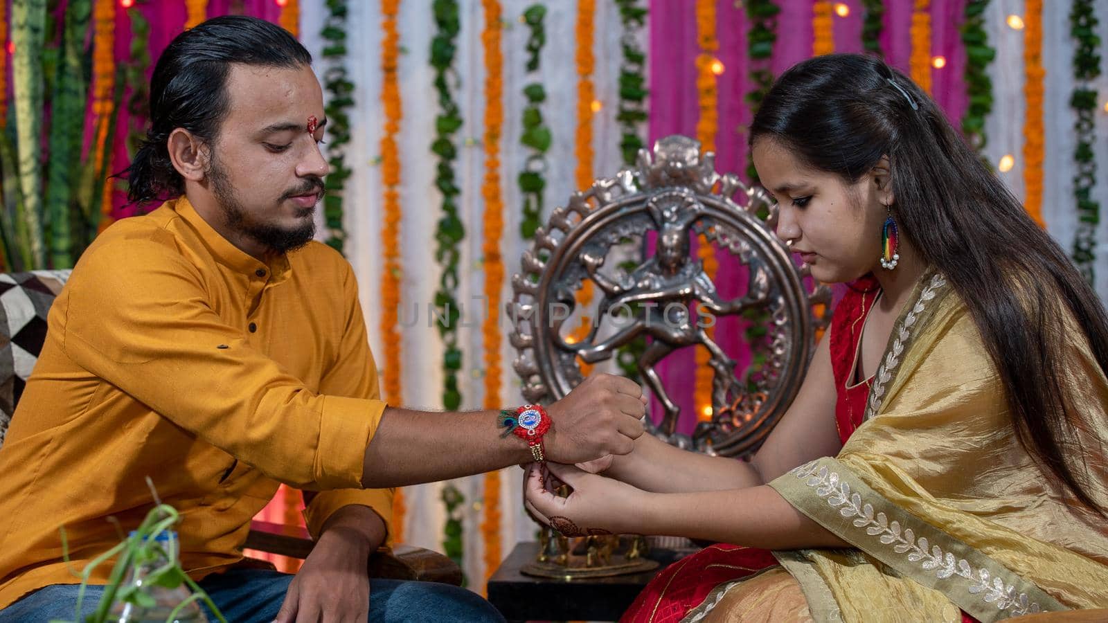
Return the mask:
[[[212,601],[228,623],[270,623],[280,610],[293,575],[277,571],[242,569],[208,575],[201,581]],[[102,586],[85,589],[82,614],[91,614]],[[53,584],[35,591],[0,610],[0,623],[48,623],[62,619],[73,621],[76,607],[76,584]],[[208,620],[215,616],[208,613]],[[480,595],[433,582],[371,580],[369,621],[496,621],[504,617]]]

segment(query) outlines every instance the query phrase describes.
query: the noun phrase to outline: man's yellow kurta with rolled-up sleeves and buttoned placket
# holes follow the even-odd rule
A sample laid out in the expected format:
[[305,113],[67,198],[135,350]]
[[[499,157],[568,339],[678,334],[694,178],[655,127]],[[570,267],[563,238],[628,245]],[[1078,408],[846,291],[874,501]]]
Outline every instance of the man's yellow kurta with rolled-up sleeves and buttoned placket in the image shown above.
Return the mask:
[[[263,263],[176,200],[121,221],[84,253],[0,449],[0,607],[136,527],[181,511],[182,565],[238,561],[279,482],[321,490],[319,533],[346,504],[388,524],[391,490],[360,487],[384,402],[350,265],[307,247]],[[96,569],[106,581],[111,565]]]

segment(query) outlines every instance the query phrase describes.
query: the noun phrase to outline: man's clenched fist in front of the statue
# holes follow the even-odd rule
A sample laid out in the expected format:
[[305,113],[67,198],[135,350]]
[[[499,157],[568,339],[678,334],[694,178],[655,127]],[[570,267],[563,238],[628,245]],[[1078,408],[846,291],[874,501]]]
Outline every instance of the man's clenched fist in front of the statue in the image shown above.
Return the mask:
[[635,439],[643,435],[646,399],[630,379],[595,375],[546,412],[554,423],[546,437],[546,457],[573,464],[634,450]]

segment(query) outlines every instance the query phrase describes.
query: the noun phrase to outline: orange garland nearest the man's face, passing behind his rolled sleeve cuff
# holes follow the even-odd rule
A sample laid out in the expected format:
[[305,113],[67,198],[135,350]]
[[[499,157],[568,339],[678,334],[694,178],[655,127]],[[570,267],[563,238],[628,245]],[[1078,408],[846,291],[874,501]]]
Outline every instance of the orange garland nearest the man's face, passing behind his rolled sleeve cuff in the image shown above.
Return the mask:
[[[381,272],[381,341],[384,343],[384,400],[391,405],[403,404],[400,387],[400,334],[397,331],[400,314],[400,154],[397,134],[400,133],[400,82],[397,69],[400,59],[400,31],[397,13],[400,0],[381,0],[381,103],[384,106],[384,135],[381,137],[381,184],[384,186],[384,224],[381,227],[381,246],[384,263]],[[397,489],[392,499],[392,537],[397,542],[404,538],[404,494]]]

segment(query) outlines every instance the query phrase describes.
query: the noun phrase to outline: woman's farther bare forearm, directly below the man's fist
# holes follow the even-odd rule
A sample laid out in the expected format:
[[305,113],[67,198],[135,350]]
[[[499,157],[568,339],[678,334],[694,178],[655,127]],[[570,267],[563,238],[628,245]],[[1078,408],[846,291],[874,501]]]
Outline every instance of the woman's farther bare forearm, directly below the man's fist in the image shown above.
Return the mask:
[[635,440],[635,451],[616,457],[604,476],[644,491],[720,491],[762,484],[751,463],[675,448],[653,435]]

